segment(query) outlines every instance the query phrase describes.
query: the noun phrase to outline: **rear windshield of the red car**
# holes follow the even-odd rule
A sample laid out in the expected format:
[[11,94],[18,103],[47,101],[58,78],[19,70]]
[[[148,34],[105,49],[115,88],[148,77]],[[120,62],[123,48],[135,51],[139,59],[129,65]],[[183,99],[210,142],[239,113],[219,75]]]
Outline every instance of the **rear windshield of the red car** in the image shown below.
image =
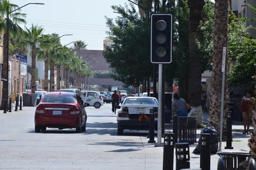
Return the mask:
[[50,103],[75,103],[76,99],[75,96],[70,95],[45,95],[43,97],[43,102],[50,102]]

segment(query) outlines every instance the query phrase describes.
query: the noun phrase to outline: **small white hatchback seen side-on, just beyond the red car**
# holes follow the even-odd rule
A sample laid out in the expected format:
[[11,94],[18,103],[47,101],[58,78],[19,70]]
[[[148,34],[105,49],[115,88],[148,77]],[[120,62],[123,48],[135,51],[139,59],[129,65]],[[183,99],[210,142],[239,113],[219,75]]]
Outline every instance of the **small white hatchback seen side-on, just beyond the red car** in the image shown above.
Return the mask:
[[99,109],[103,105],[103,97],[98,91],[82,91],[85,105]]

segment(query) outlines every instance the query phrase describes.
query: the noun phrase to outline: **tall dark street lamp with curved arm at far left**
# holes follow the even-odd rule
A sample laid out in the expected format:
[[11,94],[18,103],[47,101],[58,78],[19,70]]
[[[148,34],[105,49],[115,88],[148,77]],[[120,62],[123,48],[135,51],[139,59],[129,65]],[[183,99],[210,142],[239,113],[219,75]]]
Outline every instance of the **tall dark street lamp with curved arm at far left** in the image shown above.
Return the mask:
[[6,40],[6,43],[7,43],[7,46],[6,46],[6,96],[4,97],[5,99],[4,99],[4,114],[7,112],[7,105],[8,105],[8,94],[9,94],[9,88],[8,88],[8,86],[9,86],[9,78],[8,78],[8,76],[9,76],[9,14],[11,14],[12,12],[15,12],[15,11],[17,11],[17,10],[19,10],[19,9],[21,9],[22,7],[25,7],[25,6],[28,6],[29,4],[35,4],[35,5],[44,5],[44,3],[37,3],[37,2],[35,2],[35,3],[28,3],[28,4],[25,4],[24,6],[21,6],[21,7],[18,7],[17,9],[14,9],[13,11],[11,11],[11,12],[9,12],[9,11],[7,11],[7,25],[6,25],[6,30],[7,30],[7,35],[6,35],[6,37],[7,37],[7,40]]

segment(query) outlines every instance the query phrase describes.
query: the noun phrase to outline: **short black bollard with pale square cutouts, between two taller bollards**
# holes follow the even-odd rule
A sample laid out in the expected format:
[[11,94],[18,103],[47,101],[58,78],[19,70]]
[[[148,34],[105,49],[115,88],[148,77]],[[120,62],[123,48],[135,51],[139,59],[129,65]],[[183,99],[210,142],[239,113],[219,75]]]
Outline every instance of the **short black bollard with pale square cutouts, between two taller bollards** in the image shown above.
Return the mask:
[[190,145],[188,143],[175,143],[175,149],[176,170],[190,168]]

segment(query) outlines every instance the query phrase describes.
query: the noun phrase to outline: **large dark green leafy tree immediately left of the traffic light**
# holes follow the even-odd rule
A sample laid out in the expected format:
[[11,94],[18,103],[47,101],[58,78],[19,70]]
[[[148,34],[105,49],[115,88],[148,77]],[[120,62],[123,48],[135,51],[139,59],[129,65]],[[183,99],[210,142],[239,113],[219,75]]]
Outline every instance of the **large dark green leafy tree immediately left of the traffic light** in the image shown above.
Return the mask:
[[127,85],[133,85],[135,79],[142,82],[150,77],[153,68],[149,21],[140,19],[132,5],[131,9],[121,6],[112,6],[112,9],[121,16],[116,22],[107,18],[106,23],[113,45],[107,47],[103,55],[112,68],[111,76]]

